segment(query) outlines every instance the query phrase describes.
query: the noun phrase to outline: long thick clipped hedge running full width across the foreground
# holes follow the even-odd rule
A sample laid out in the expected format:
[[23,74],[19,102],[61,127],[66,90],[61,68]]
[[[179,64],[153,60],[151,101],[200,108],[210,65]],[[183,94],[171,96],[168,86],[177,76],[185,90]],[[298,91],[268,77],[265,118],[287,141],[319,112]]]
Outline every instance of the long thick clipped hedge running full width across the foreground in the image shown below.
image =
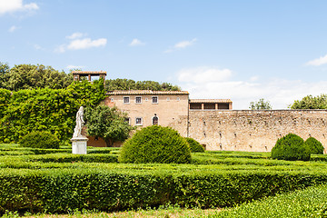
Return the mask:
[[0,169],[0,213],[119,211],[156,207],[224,207],[326,183],[325,173],[266,170],[151,173],[105,169]]

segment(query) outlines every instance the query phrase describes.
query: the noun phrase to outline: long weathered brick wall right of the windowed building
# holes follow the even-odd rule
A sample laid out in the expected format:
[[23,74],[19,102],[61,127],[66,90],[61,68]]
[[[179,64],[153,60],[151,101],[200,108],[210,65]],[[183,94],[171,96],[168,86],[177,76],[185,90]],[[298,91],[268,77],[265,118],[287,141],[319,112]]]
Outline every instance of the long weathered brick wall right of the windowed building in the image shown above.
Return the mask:
[[[183,132],[184,126],[173,127]],[[289,133],[327,146],[326,131],[327,110],[189,111],[188,135],[207,150],[270,152]]]

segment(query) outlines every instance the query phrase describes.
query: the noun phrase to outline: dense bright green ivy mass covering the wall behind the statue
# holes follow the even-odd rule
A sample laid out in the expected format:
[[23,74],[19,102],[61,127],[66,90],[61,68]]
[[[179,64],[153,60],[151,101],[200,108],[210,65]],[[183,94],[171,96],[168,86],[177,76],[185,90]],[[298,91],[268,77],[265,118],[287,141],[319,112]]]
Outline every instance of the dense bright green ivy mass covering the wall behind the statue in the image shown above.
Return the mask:
[[18,142],[33,131],[49,131],[61,141],[73,135],[74,117],[81,105],[104,100],[104,82],[75,82],[65,89],[0,89],[0,142]]

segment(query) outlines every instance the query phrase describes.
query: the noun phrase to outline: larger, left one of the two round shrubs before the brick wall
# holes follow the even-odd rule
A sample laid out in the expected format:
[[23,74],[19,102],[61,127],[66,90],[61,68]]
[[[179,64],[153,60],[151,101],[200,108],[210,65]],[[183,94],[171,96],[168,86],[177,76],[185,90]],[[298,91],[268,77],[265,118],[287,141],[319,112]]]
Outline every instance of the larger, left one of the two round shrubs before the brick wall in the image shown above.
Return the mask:
[[287,134],[278,139],[272,148],[272,159],[309,161],[310,147],[296,134]]

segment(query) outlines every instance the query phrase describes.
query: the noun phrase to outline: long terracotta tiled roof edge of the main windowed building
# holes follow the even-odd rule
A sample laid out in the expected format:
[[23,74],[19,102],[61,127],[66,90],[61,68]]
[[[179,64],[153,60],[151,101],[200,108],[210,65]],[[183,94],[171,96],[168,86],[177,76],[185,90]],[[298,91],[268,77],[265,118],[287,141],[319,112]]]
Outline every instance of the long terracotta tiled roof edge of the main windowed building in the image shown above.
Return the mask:
[[163,95],[163,94],[189,94],[187,91],[152,91],[152,90],[115,90],[109,91],[107,95]]

